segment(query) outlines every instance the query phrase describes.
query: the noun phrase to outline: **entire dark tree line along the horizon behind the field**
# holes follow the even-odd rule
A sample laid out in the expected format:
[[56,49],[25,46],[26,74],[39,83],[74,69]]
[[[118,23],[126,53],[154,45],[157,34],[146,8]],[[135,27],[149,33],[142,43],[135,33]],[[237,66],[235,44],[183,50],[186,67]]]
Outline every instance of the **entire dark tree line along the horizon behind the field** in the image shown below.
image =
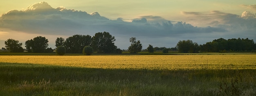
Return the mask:
[[[90,35],[73,35],[64,39],[62,37],[57,37],[55,41],[55,46],[58,48],[62,46],[62,50],[65,53],[83,53],[91,47],[90,51],[97,53],[122,53],[120,48],[115,46],[115,37],[108,32],[95,33],[92,37]],[[35,37],[34,39],[27,40],[25,42],[25,47],[27,52],[53,52],[52,48],[48,47],[48,39],[42,36]],[[142,44],[136,37],[130,38],[131,45],[128,47],[130,53],[141,52]],[[4,42],[5,47],[9,52],[23,52],[22,43],[18,40],[8,39]],[[85,46],[88,46],[85,48]],[[64,50],[64,49],[65,50]],[[3,48],[2,48],[3,49]],[[86,49],[86,50],[85,50]],[[87,50],[88,49],[88,50]],[[206,44],[198,44],[192,40],[182,40],[177,43],[174,48],[166,47],[155,47],[148,45],[145,49],[148,52],[162,51],[163,53],[168,53],[168,51],[178,51],[178,52],[255,52],[256,43],[253,39],[214,39],[213,41],[207,42]],[[64,54],[65,54],[64,53]],[[63,53],[61,53],[63,54]],[[85,54],[85,53],[84,53]]]

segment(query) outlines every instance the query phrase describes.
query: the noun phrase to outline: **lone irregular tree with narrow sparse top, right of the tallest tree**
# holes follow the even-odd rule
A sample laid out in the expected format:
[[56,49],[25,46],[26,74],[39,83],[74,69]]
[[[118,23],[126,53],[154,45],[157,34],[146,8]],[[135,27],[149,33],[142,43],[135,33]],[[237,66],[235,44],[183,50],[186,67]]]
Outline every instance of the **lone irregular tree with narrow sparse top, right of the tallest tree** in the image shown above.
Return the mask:
[[128,51],[130,53],[138,53],[141,52],[142,45],[140,44],[140,41],[136,41],[136,37],[130,38],[131,46],[128,47]]

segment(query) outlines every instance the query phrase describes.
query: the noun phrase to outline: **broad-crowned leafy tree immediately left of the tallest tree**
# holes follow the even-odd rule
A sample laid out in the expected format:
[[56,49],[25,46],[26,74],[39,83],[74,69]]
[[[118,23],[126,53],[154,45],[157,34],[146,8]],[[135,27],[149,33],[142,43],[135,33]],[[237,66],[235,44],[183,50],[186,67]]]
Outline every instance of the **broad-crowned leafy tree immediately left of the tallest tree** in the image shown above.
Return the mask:
[[91,44],[92,37],[90,35],[73,35],[64,42],[67,53],[82,53],[83,48]]

